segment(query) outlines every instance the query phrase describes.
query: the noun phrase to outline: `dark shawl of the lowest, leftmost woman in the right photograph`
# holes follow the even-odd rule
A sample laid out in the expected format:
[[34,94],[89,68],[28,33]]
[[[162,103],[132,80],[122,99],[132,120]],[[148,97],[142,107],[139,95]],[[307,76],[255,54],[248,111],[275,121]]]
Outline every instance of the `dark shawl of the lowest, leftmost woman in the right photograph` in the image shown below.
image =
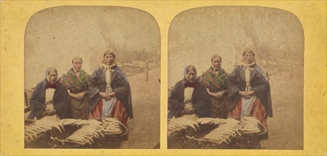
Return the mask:
[[[187,82],[185,79],[180,80],[175,84],[174,88],[170,92],[168,97],[168,107],[170,112],[168,113],[168,118],[172,116],[179,117],[178,114],[184,109],[184,84]],[[206,91],[204,84],[200,83],[196,79],[196,87],[194,88],[192,94],[192,104],[195,113],[199,118],[210,117],[211,116],[211,104],[209,101],[209,94]]]

